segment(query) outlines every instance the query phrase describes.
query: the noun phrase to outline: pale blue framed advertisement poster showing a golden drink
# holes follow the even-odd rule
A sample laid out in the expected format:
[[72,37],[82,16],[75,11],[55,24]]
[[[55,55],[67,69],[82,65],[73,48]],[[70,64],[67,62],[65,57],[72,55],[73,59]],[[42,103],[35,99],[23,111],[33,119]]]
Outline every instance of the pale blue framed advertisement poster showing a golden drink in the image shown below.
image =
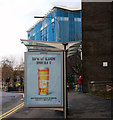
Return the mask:
[[25,105],[63,107],[63,53],[25,53]]

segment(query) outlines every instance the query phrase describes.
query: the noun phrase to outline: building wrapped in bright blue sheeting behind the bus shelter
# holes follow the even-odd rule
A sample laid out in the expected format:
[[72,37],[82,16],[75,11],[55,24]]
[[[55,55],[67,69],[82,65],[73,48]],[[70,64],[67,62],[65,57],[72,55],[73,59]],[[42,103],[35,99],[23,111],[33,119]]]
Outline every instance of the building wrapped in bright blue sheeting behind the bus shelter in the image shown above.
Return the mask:
[[70,42],[82,39],[81,10],[56,6],[28,31],[29,40]]

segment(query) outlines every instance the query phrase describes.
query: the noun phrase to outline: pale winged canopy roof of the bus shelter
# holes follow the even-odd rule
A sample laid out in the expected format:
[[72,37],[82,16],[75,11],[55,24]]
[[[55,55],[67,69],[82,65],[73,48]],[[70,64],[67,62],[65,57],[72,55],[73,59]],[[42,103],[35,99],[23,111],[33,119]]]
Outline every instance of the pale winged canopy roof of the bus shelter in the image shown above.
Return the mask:
[[[77,50],[81,49],[82,41],[74,41],[68,43],[36,41],[21,39],[21,42],[27,47],[29,52],[32,51],[64,51],[67,50],[67,55],[73,55]],[[65,47],[64,47],[65,45]]]

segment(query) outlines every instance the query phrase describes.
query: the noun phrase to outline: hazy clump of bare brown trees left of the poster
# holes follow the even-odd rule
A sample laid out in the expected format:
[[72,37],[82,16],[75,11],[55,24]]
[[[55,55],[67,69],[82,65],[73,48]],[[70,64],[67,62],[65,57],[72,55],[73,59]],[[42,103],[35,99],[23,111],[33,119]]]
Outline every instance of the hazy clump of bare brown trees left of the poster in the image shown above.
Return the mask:
[[17,83],[20,83],[21,86],[23,85],[24,63],[22,58],[20,62],[17,62],[12,56],[4,57],[1,61],[1,66],[2,82],[6,88],[10,89],[11,87],[11,89],[14,89]]

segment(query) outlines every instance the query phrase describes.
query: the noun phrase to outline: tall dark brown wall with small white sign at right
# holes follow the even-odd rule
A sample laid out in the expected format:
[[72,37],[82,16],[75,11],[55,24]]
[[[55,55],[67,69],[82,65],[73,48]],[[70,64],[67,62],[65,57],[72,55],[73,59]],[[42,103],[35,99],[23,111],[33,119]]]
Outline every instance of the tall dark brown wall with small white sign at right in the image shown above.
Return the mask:
[[113,3],[83,2],[82,18],[84,91],[102,92],[113,83]]

